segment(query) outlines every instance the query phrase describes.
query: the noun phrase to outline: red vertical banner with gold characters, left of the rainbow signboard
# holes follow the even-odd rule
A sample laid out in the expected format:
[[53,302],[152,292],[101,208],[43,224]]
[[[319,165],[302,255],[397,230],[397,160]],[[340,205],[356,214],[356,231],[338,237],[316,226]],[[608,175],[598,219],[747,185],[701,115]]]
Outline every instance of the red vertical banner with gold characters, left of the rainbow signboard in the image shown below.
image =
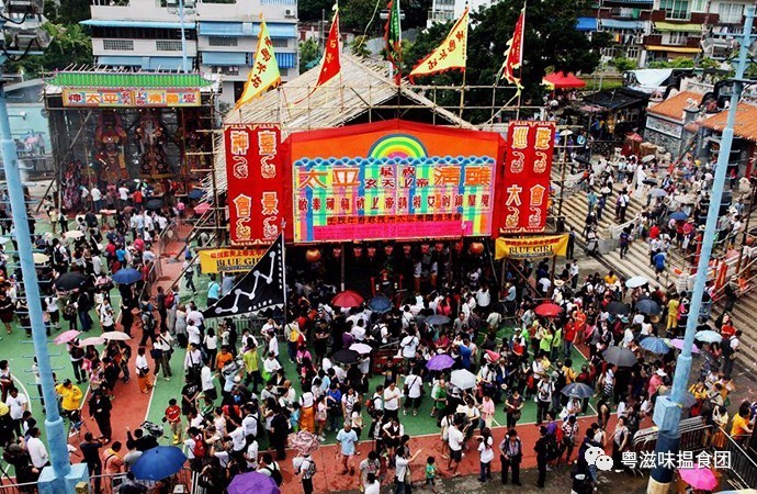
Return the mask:
[[231,244],[271,244],[286,212],[281,131],[273,124],[230,124],[224,144]]

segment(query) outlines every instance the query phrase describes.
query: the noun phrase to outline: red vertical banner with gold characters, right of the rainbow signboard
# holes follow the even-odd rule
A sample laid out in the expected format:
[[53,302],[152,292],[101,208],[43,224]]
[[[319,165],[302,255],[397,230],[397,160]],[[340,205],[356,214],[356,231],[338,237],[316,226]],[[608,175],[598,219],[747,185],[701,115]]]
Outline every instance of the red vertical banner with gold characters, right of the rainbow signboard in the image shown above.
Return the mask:
[[554,142],[554,122],[510,122],[498,188],[499,233],[544,231]]

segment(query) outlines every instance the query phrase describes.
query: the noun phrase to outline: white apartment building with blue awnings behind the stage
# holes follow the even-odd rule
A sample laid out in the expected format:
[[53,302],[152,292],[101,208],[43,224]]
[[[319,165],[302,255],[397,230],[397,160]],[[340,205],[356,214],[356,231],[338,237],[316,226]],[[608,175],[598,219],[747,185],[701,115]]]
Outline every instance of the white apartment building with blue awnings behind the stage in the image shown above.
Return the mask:
[[282,79],[300,74],[296,0],[190,0],[183,24],[173,1],[93,0],[92,19],[82,24],[92,30],[95,65],[181,70],[183,27],[190,70],[221,74],[221,101],[231,104],[251,69],[262,13]]

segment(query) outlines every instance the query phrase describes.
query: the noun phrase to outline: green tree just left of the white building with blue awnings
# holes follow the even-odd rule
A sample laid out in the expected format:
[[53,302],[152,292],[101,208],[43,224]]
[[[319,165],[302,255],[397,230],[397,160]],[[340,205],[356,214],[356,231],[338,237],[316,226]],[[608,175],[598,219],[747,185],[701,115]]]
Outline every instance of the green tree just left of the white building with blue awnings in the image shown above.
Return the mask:
[[47,49],[39,56],[29,56],[19,61],[9,61],[10,71],[34,78],[45,72],[65,69],[70,65],[92,64],[92,41],[83,26],[47,22],[43,29],[53,38]]

